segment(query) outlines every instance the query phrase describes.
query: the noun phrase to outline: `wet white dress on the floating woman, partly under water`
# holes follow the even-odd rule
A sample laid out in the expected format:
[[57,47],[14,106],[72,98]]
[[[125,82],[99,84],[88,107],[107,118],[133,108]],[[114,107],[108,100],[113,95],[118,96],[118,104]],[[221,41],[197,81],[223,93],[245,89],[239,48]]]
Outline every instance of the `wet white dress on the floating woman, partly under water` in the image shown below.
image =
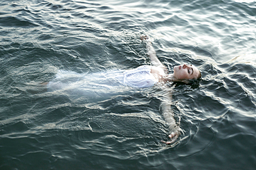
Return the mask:
[[150,65],[132,70],[82,73],[59,70],[47,85],[48,91],[65,91],[81,96],[104,96],[121,92],[124,87],[152,87],[158,81],[151,74]]

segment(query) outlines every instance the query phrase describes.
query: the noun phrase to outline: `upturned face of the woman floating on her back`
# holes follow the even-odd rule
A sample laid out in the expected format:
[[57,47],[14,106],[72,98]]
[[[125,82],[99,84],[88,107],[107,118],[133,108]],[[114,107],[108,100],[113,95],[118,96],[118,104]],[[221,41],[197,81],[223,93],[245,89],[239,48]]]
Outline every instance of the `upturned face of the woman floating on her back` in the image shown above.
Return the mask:
[[174,66],[174,77],[179,80],[194,79],[199,76],[199,70],[194,65],[176,65]]

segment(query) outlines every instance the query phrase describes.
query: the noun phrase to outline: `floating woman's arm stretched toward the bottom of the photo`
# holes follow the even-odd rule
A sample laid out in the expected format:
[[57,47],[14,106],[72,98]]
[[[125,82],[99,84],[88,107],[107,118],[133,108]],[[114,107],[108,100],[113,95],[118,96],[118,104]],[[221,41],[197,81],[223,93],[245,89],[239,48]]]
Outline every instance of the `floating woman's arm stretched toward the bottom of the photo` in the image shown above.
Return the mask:
[[165,96],[163,96],[163,101],[161,104],[161,110],[163,113],[163,118],[165,119],[165,121],[168,124],[168,129],[169,129],[169,138],[170,140],[165,142],[167,145],[171,144],[173,142],[175,142],[175,140],[179,137],[179,134],[181,134],[181,128],[179,127],[179,125],[177,125],[176,120],[174,119],[174,113],[172,111],[171,108],[171,99],[172,99],[172,92],[170,87],[165,87],[163,86],[164,89],[164,94]]

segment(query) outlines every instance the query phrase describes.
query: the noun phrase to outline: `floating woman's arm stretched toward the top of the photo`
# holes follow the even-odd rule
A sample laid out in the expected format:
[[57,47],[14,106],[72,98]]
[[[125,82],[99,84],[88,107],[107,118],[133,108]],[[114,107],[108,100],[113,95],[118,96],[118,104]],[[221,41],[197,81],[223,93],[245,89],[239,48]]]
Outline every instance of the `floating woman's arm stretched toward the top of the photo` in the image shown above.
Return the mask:
[[163,65],[163,63],[161,63],[161,61],[159,61],[159,59],[156,56],[156,51],[154,50],[154,47],[152,46],[152,42],[149,40],[149,36],[141,36],[140,39],[142,41],[145,41],[147,44],[147,52],[149,54],[149,59],[152,63],[152,65],[156,66],[156,67],[161,67],[163,70],[167,70],[167,68],[165,67],[165,65]]

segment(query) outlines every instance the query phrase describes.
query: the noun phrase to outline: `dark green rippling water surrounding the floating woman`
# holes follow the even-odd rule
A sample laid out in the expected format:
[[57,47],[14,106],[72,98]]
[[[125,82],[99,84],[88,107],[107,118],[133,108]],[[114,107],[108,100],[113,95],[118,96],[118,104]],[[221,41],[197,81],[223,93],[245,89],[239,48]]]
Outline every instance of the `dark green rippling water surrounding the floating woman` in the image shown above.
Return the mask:
[[[255,15],[242,0],[1,1],[0,169],[255,169]],[[91,100],[39,85],[149,64],[142,34],[170,70],[203,75],[172,87],[174,145],[156,87]]]

